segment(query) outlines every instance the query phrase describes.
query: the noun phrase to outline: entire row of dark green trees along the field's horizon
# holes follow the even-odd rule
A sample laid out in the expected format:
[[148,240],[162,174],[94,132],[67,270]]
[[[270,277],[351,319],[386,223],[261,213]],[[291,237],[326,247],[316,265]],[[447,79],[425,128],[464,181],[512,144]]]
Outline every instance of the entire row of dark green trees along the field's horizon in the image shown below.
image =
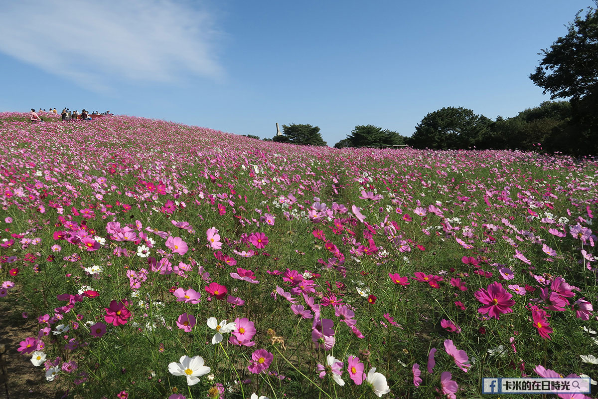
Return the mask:
[[[598,0],[594,0],[598,6]],[[597,7],[598,8],[598,7]],[[598,10],[580,10],[568,33],[543,49],[529,78],[550,93],[551,101],[511,118],[491,120],[472,109],[449,106],[430,112],[410,137],[371,124],[355,126],[335,148],[406,144],[435,150],[538,150],[573,156],[598,154]],[[563,100],[553,101],[561,98]],[[326,145],[318,126],[283,125],[269,139],[302,145]]]

